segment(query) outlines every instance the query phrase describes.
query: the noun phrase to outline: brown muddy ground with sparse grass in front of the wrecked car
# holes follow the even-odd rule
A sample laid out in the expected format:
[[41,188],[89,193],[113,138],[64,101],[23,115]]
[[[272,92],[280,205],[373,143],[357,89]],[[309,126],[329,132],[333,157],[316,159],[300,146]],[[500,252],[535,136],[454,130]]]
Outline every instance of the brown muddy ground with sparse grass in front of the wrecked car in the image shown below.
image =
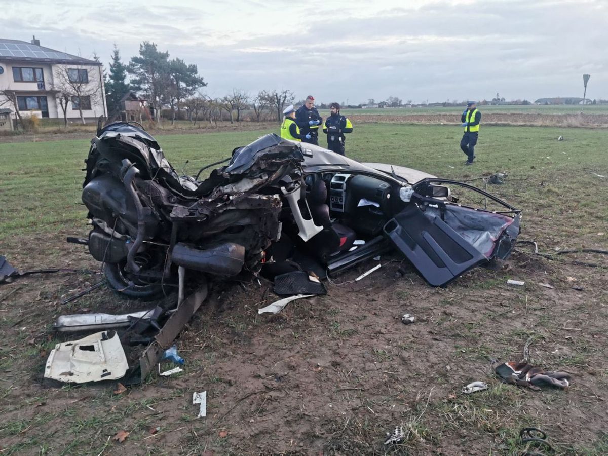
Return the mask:
[[[64,234],[38,240],[56,244],[52,264],[96,271],[85,247],[63,248]],[[50,264],[8,247],[22,270]],[[401,258],[383,257],[364,280],[351,282],[375,261],[275,316],[257,313],[276,299],[266,283],[216,283],[177,341],[185,372],[120,394],[116,382],[44,382],[49,349],[70,339],[50,324],[61,313],[142,303],[106,289],[58,303],[97,282],[95,273],[21,278],[0,287],[0,454],[519,454],[517,432],[529,425],[559,454],[606,454],[606,269],[518,250],[508,269],[475,269],[444,289],[407,266],[398,277]],[[416,322],[404,325],[404,313]],[[519,361],[527,340],[531,362],[572,374],[570,390],[517,389],[492,375],[489,359]],[[490,389],[460,392],[477,380]],[[207,417],[196,418],[192,393],[202,390]],[[385,447],[398,425],[406,441]],[[120,430],[130,432],[123,443],[112,440]]]

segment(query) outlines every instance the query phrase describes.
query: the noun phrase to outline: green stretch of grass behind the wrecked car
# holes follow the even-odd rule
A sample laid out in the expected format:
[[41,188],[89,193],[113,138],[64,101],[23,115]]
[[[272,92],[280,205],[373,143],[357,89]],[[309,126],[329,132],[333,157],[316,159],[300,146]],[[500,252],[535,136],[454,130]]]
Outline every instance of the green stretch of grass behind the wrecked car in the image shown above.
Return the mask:
[[[264,133],[269,131],[175,134],[157,140],[178,171],[195,174],[202,165],[229,157],[234,147]],[[565,140],[558,142],[560,135]],[[492,192],[513,193],[516,187],[511,202],[546,216],[558,216],[554,208],[568,198],[570,204],[559,214],[563,221],[575,221],[582,213],[593,221],[592,230],[603,231],[601,221],[608,219],[608,208],[601,195],[608,179],[593,173],[608,174],[607,131],[482,127],[473,167],[463,167],[460,136],[460,128],[451,126],[355,125],[347,139],[347,154],[454,179],[506,171],[507,184],[491,187]],[[0,143],[0,240],[33,233],[86,232],[80,193],[88,147],[89,141],[80,139]],[[575,208],[579,212],[568,211]]]

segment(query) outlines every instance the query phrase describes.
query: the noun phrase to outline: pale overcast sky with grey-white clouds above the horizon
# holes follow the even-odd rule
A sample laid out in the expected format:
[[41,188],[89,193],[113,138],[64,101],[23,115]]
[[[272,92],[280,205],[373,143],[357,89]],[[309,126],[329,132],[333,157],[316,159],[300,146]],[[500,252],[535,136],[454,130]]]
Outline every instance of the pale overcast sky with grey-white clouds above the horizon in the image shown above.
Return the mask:
[[144,40],[210,96],[291,89],[356,104],[608,98],[608,0],[0,0],[0,38],[123,61]]

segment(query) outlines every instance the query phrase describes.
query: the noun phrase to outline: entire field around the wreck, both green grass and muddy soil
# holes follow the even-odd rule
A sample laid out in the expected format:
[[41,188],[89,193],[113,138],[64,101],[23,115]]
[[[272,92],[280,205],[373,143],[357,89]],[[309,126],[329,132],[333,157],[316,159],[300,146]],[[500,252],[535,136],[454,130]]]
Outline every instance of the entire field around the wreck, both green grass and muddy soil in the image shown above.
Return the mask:
[[[263,133],[157,140],[175,168],[195,174]],[[452,126],[356,125],[347,154],[480,187],[483,176],[508,173],[504,185],[487,187],[523,209],[520,239],[548,253],[607,248],[607,130],[485,126],[471,167],[460,136]],[[81,139],[0,143],[0,254],[17,268],[98,269],[83,247],[64,243],[88,232],[87,151]],[[445,289],[413,271],[396,278],[402,260],[393,255],[366,280],[349,282],[370,264],[272,317],[257,314],[274,300],[266,284],[219,284],[177,341],[184,373],[125,393],[114,384],[49,387],[42,372],[50,348],[70,339],[50,328],[59,314],[140,303],[99,289],[60,305],[99,280],[93,273],[0,286],[0,455],[515,455],[529,425],[547,432],[556,454],[606,455],[606,258],[531,251],[519,246],[508,269],[475,269]],[[406,312],[415,324],[402,325]],[[568,392],[517,389],[489,373],[488,358],[519,361],[527,340],[531,362],[572,373]],[[490,389],[460,393],[476,380]],[[208,415],[196,419],[190,398],[202,390]],[[398,425],[406,440],[384,447]],[[123,429],[127,440],[112,441]]]

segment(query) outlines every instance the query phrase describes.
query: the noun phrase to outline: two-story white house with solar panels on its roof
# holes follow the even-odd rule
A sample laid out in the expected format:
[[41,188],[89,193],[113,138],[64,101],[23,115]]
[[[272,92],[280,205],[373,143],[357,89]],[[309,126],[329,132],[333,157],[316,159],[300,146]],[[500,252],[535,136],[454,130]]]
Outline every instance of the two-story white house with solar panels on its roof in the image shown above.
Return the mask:
[[61,97],[69,120],[79,119],[81,111],[85,119],[107,117],[102,64],[40,46],[36,38],[0,38],[0,105],[13,119],[15,109],[22,117],[63,119]]

